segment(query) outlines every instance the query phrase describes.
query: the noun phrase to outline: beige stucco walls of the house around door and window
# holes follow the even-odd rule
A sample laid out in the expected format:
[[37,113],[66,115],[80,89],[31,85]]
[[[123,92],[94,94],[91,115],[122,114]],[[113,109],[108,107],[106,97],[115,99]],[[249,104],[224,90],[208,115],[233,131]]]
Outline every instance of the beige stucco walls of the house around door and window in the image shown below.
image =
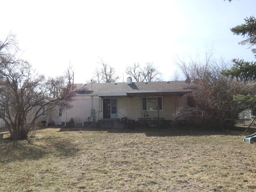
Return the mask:
[[[86,122],[87,118],[91,116],[91,108],[95,112],[102,111],[103,99],[94,95],[79,95],[71,103],[72,108],[62,109],[62,122],[68,122],[73,118],[76,122]],[[144,118],[144,112],[142,111],[142,98],[141,97],[118,97],[117,98],[117,118],[128,117],[130,119],[138,120],[138,118]],[[186,96],[165,96],[162,97],[163,109],[159,111],[159,116],[166,120],[172,120],[172,114],[178,107],[186,106]],[[154,118],[158,116],[158,111],[148,111],[148,118]],[[96,121],[103,118],[103,112],[96,113]]]

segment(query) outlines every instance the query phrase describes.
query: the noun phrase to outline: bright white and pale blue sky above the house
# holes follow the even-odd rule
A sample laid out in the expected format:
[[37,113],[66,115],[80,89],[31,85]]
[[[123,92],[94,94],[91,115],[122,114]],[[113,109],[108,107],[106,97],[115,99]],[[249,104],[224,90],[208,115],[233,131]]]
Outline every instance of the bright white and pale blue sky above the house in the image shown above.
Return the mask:
[[[126,81],[126,66],[153,62],[171,80],[176,56],[255,60],[230,28],[255,16],[255,0],[2,0],[0,38],[17,34],[23,58],[45,76],[69,65],[90,80],[100,58]],[[100,57],[100,58],[99,58]]]

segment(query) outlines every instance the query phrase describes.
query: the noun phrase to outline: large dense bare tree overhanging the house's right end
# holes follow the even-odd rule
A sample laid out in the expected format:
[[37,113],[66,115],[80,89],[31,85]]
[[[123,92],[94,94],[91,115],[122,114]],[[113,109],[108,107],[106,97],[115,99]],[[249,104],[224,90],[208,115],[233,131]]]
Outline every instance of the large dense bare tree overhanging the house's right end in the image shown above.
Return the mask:
[[[234,96],[252,94],[255,88],[223,76],[222,70],[230,64],[222,59],[209,58],[209,54],[205,56],[204,59],[178,63],[184,75],[197,83],[197,89],[191,94],[194,106],[191,106],[189,112],[197,114],[198,116],[193,118],[201,118],[206,127],[230,128],[234,126],[238,114],[245,109],[245,106],[234,102]],[[207,117],[207,120],[204,117]]]

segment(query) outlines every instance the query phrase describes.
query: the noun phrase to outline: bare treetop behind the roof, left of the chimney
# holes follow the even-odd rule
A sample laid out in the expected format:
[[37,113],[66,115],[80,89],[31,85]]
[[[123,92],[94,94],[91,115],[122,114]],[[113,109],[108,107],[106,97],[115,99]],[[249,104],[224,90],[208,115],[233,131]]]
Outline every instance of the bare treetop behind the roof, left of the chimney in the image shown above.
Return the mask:
[[119,76],[116,74],[115,69],[105,63],[102,59],[100,59],[101,62],[101,68],[96,68],[94,75],[97,78],[98,83],[100,82],[105,82],[105,83],[110,83],[110,82],[116,82],[116,80],[119,79]]

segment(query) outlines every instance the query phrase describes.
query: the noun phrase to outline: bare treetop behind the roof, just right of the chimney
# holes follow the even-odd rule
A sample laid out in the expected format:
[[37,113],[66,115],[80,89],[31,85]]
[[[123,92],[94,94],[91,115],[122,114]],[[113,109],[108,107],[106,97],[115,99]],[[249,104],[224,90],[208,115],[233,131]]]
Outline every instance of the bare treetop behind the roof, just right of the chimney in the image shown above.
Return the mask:
[[141,68],[139,63],[134,63],[133,66],[126,67],[125,72],[134,78],[136,82],[160,81],[162,75],[154,64],[149,62],[146,63],[144,68]]

